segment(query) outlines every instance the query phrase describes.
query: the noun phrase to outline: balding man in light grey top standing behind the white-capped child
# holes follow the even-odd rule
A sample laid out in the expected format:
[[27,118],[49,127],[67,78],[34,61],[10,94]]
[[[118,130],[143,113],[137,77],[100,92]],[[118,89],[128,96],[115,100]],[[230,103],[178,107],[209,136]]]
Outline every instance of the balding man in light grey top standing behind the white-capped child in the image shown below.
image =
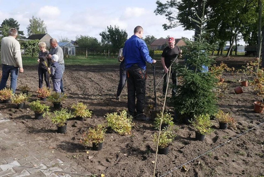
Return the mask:
[[[58,57],[59,57],[58,63],[61,67],[61,75],[63,76],[64,70],[65,70],[63,50],[61,47],[59,47],[57,40],[54,38],[50,39],[50,45],[51,45],[51,51],[50,51],[48,57],[49,57],[49,59],[51,59],[52,55],[54,55],[54,54],[58,55]],[[61,93],[64,93],[62,78],[60,79],[60,90],[61,90]]]

